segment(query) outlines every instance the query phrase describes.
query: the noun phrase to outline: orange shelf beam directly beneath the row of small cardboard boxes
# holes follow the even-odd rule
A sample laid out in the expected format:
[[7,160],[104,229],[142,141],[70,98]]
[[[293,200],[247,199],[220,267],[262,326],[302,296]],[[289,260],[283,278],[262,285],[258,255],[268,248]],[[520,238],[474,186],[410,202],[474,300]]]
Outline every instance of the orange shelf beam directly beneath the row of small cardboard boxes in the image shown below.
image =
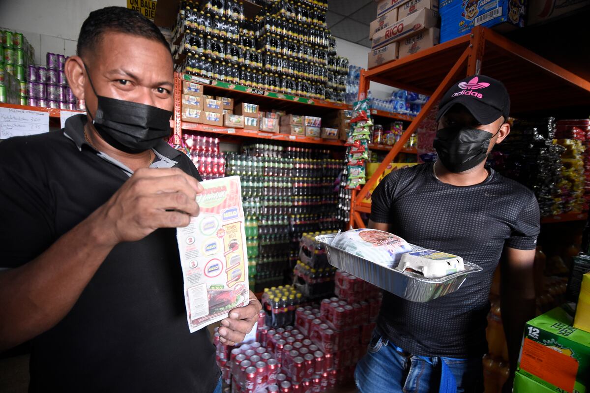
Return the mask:
[[270,140],[284,140],[287,142],[313,143],[315,145],[344,147],[344,141],[337,140],[337,139],[323,139],[323,138],[312,137],[312,136],[288,135],[288,134],[272,133],[272,132],[264,132],[264,131],[244,130],[241,128],[209,126],[209,125],[198,124],[198,123],[189,123],[189,122],[181,122],[181,126],[182,126],[183,131],[211,132],[211,133],[216,133],[216,134],[224,134],[227,136],[240,136],[240,137],[258,138],[258,139],[270,139]]

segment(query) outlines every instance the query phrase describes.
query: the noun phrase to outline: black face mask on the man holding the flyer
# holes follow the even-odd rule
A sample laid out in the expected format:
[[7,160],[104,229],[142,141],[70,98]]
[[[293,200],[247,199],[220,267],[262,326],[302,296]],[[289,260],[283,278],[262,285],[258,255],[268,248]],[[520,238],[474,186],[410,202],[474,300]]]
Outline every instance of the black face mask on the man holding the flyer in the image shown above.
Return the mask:
[[96,95],[98,107],[92,124],[109,145],[126,153],[141,153],[154,148],[171,133],[172,112],[155,106],[99,96],[88,68],[86,74]]

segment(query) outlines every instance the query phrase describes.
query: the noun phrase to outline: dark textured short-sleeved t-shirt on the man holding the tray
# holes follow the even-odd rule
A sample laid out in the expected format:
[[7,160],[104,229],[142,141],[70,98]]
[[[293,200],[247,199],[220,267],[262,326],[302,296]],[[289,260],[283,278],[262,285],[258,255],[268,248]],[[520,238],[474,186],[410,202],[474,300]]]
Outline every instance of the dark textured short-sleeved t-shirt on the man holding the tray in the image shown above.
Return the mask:
[[378,328],[395,345],[421,356],[470,358],[487,352],[486,316],[494,270],[504,247],[532,250],[539,205],[525,186],[491,169],[477,185],[434,176],[433,164],[385,176],[372,195],[371,220],[392,224],[412,244],[463,257],[483,268],[457,292],[415,303],[385,292]]

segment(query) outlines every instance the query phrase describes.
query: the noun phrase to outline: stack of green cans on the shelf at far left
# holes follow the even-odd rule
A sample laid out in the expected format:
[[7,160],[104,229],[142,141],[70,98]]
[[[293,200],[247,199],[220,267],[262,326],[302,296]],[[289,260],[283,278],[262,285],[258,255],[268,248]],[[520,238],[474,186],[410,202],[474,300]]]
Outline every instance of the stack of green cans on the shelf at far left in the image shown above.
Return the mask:
[[22,33],[0,30],[0,103],[27,105],[25,71],[34,50]]

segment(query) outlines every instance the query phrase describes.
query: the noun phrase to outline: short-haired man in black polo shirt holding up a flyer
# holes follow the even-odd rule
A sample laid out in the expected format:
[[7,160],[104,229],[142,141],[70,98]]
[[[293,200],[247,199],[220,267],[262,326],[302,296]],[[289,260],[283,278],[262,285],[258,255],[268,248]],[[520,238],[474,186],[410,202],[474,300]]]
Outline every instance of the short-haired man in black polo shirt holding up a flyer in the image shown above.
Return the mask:
[[[65,73],[87,116],[0,143],[0,351],[31,340],[30,391],[221,391],[207,329],[189,333],[176,227],[201,177],[163,141],[173,64],[158,28],[91,12]],[[260,303],[222,321],[240,342]]]

